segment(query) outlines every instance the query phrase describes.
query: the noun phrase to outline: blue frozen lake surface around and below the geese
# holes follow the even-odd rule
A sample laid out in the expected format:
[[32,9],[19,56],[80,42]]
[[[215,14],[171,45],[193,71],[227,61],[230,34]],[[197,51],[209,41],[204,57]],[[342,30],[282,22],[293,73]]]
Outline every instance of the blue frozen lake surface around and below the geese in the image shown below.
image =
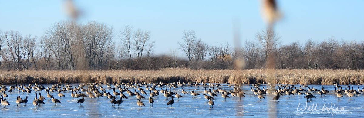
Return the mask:
[[[52,84],[42,84],[45,88],[47,86],[52,86]],[[73,88],[78,86],[79,84],[71,84]],[[9,88],[9,85],[6,85]],[[102,85],[104,89],[106,89],[106,85]],[[114,85],[112,85],[114,86]],[[260,88],[266,88],[268,84],[261,85]],[[276,85],[277,86],[277,85]],[[299,89],[299,85],[295,85],[297,89]],[[308,85],[309,87],[314,87],[316,89],[321,89],[321,85]],[[346,85],[344,85],[346,88]],[[357,89],[357,85],[353,86],[354,89]],[[40,105],[37,108],[34,108],[32,102],[35,98],[35,92],[27,94],[23,93],[17,89],[14,89],[12,94],[7,92],[8,97],[6,100],[11,104],[9,105],[9,109],[3,108],[1,106],[1,116],[0,117],[363,117],[364,112],[364,100],[362,95],[358,95],[357,97],[353,97],[349,99],[349,97],[343,93],[343,98],[338,99],[336,94],[334,93],[335,86],[334,85],[324,85],[324,88],[330,91],[330,94],[322,95],[318,93],[312,93],[316,98],[312,98],[312,101],[307,102],[306,107],[306,98],[304,98],[305,94],[302,92],[302,95],[282,95],[279,99],[279,102],[275,102],[272,98],[275,95],[269,94],[264,95],[265,99],[261,101],[257,98],[257,95],[254,95],[252,91],[250,91],[250,85],[243,85],[240,88],[246,94],[246,97],[242,97],[241,100],[238,97],[235,98],[226,98],[224,100],[221,97],[222,93],[216,93],[218,96],[214,97],[214,106],[210,108],[207,100],[204,98],[204,88],[205,86],[178,86],[178,88],[169,89],[168,86],[164,87],[156,87],[157,90],[168,89],[173,92],[177,92],[181,94],[182,88],[187,91],[189,94],[186,94],[183,98],[179,98],[179,100],[174,99],[173,107],[167,106],[167,102],[171,100],[171,98],[166,99],[163,94],[159,94],[159,96],[154,98],[154,106],[150,106],[148,102],[149,90],[145,89],[145,86],[142,88],[145,89],[147,95],[143,95],[146,99],[141,99],[141,101],[146,105],[142,106],[139,109],[137,105],[137,98],[135,96],[130,98],[128,94],[124,92],[124,94],[129,99],[124,99],[123,103],[118,107],[118,105],[112,106],[110,104],[110,99],[103,96],[99,99],[94,98],[91,101],[91,98],[85,97],[85,102],[83,106],[79,103],[76,103],[77,98],[73,99],[71,97],[71,91],[64,92],[66,96],[63,99],[58,97],[58,92],[51,93],[55,98],[59,99],[62,103],[57,103],[55,106],[54,103],[48,99],[46,91],[40,91],[37,93],[41,93],[42,96],[46,97],[44,100],[45,105]],[[359,88],[363,88],[361,85]],[[86,87],[84,87],[86,88]],[[212,86],[206,86],[207,89],[212,89]],[[221,84],[220,88],[226,89],[227,91],[233,90],[233,86],[229,87],[227,84]],[[254,87],[253,87],[254,88]],[[134,88],[129,88],[132,92],[134,92]],[[217,87],[215,86],[215,89]],[[278,89],[278,88],[277,88]],[[308,90],[308,88],[304,88]],[[343,87],[344,89],[344,87]],[[194,98],[190,92],[194,90],[196,93],[200,95],[197,98]],[[116,91],[119,92],[118,89]],[[140,91],[137,90],[139,93]],[[112,94],[112,89],[106,89],[106,92],[110,92]],[[83,93],[83,92],[82,92]],[[103,93],[103,92],[102,92]],[[120,93],[120,92],[119,92]],[[86,94],[86,93],[85,93]],[[113,94],[112,94],[113,95]],[[16,98],[17,96],[21,96],[21,98],[25,99],[28,96],[27,106],[16,106]],[[231,95],[229,95],[232,97]],[[116,97],[116,100],[119,100],[120,96]],[[325,105],[325,106],[324,106]],[[309,111],[312,109],[311,107],[316,107],[316,110]],[[306,109],[305,109],[306,107]],[[322,108],[332,108],[339,110],[344,108],[345,114],[340,114],[340,112],[336,112],[333,114],[332,112],[318,112],[318,111],[333,111],[332,109],[323,110]],[[297,111],[300,110],[301,111]],[[316,111],[316,112],[314,112]],[[342,113],[342,112],[341,112]],[[347,114],[349,113],[349,114]]]

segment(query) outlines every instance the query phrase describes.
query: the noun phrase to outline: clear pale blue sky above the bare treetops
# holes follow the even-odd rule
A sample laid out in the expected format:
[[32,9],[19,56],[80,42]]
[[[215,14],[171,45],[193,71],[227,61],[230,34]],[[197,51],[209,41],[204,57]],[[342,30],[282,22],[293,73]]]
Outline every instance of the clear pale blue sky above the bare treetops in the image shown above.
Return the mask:
[[[363,4],[363,0],[279,0],[284,16],[275,30],[282,44],[323,41],[331,36],[363,41]],[[41,37],[52,24],[70,19],[64,12],[64,0],[3,0],[0,5],[0,29],[17,30],[23,36]],[[260,14],[261,1],[256,0],[77,0],[75,5],[83,12],[79,23],[96,20],[112,25],[116,42],[124,24],[150,30],[155,54],[177,49],[177,41],[182,41],[182,32],[188,29],[195,30],[208,44],[233,45],[233,27],[239,27],[244,45],[266,27]]]

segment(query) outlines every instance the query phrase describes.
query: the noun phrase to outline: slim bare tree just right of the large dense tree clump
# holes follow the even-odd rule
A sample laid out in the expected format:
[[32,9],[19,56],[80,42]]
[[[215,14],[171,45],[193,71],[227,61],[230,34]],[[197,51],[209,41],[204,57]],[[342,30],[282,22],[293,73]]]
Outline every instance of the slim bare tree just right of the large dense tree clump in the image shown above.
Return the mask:
[[120,30],[119,38],[123,46],[126,47],[126,52],[128,53],[129,60],[132,59],[131,57],[131,48],[132,48],[132,36],[133,36],[133,26],[131,25],[124,25],[124,28]]

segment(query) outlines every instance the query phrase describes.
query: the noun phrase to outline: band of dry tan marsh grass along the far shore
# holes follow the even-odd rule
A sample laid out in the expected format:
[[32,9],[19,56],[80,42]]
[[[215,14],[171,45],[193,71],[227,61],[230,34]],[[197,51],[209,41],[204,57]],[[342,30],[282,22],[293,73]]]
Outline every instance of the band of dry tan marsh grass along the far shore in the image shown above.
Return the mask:
[[212,82],[256,84],[270,82],[277,84],[363,84],[361,70],[98,70],[98,71],[1,71],[1,84],[53,84],[90,82]]

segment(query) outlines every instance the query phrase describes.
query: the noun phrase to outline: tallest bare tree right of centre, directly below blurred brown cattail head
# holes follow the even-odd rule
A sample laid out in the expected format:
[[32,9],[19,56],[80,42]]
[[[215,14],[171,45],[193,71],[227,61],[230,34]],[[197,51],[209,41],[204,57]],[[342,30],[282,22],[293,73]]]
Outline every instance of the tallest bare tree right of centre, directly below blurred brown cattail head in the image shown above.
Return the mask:
[[276,32],[274,32],[271,27],[258,32],[256,38],[262,46],[262,52],[260,53],[264,55],[265,60],[268,58],[269,54],[272,53],[272,50],[281,43],[280,37],[277,36]]

